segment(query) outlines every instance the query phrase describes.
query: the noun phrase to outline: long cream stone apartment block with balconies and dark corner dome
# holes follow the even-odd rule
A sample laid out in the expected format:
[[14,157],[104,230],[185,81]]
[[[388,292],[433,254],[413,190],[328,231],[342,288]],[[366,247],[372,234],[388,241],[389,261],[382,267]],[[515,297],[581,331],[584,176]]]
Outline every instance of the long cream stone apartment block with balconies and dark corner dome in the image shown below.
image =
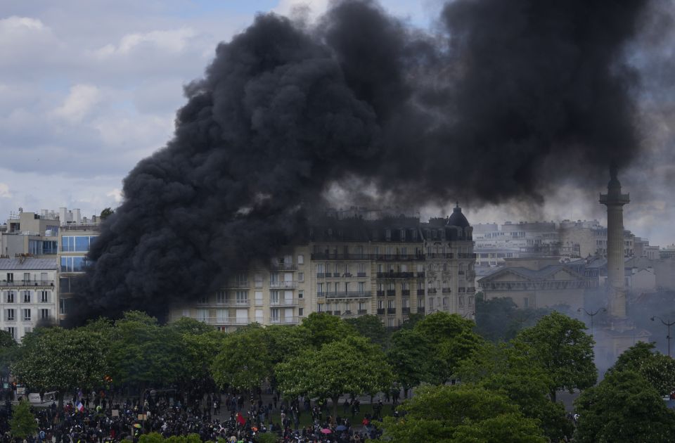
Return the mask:
[[189,316],[231,330],[296,324],[311,312],[374,314],[392,328],[414,313],[473,316],[472,228],[461,208],[428,223],[373,213],[316,221],[297,245],[237,272],[216,293],[172,307],[169,319]]

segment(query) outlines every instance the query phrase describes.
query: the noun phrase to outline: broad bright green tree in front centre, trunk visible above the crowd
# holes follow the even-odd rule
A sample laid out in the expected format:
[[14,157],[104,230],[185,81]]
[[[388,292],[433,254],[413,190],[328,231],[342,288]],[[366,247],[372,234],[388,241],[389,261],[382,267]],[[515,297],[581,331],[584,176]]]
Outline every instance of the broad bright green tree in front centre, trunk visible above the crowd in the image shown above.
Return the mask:
[[344,393],[375,394],[389,389],[392,372],[378,345],[358,336],[328,342],[321,349],[305,349],[297,357],[277,364],[279,390],[296,397],[331,399],[333,416],[338,413],[338,399]]

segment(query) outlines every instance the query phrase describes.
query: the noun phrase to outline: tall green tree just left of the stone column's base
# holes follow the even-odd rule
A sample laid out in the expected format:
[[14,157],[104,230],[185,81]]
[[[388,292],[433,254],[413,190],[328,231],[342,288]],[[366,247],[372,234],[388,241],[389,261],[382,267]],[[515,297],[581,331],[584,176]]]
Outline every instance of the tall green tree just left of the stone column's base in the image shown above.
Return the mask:
[[517,341],[529,345],[532,356],[551,380],[549,395],[555,402],[558,390],[583,390],[595,385],[598,370],[593,364],[593,338],[579,320],[551,312],[536,326],[518,334]]

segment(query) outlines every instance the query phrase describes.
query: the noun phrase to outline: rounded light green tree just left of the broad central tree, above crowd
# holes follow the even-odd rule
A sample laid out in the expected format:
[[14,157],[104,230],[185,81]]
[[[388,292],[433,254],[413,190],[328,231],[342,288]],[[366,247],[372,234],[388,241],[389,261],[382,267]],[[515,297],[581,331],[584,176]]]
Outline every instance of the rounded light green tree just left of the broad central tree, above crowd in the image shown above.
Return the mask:
[[226,335],[211,365],[211,375],[217,385],[241,390],[259,387],[271,373],[267,337],[260,326]]

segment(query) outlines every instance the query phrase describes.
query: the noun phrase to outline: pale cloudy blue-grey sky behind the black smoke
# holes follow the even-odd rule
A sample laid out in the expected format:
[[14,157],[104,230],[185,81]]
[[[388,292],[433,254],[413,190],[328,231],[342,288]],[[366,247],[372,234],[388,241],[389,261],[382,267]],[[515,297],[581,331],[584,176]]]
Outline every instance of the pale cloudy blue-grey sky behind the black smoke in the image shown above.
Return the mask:
[[[0,6],[0,221],[11,211],[117,205],[122,178],[172,136],[182,85],[202,75],[219,41],[245,29],[256,13],[288,14],[328,0],[4,1]],[[382,0],[394,15],[432,25],[441,0]],[[646,36],[648,38],[650,36]],[[667,41],[672,41],[668,40]],[[654,46],[654,45],[653,45]],[[658,60],[672,45],[655,44]],[[662,90],[664,65],[636,64]],[[672,65],[665,65],[671,68]],[[668,75],[666,75],[668,77]],[[647,153],[622,183],[633,203],[626,228],[652,243],[673,243],[675,168],[673,101],[643,96]],[[510,219],[603,221],[599,189],[568,184],[541,207],[506,202],[466,207],[472,222]],[[449,205],[450,207],[450,205]],[[447,210],[447,209],[446,209]],[[428,210],[433,212],[433,210]]]

